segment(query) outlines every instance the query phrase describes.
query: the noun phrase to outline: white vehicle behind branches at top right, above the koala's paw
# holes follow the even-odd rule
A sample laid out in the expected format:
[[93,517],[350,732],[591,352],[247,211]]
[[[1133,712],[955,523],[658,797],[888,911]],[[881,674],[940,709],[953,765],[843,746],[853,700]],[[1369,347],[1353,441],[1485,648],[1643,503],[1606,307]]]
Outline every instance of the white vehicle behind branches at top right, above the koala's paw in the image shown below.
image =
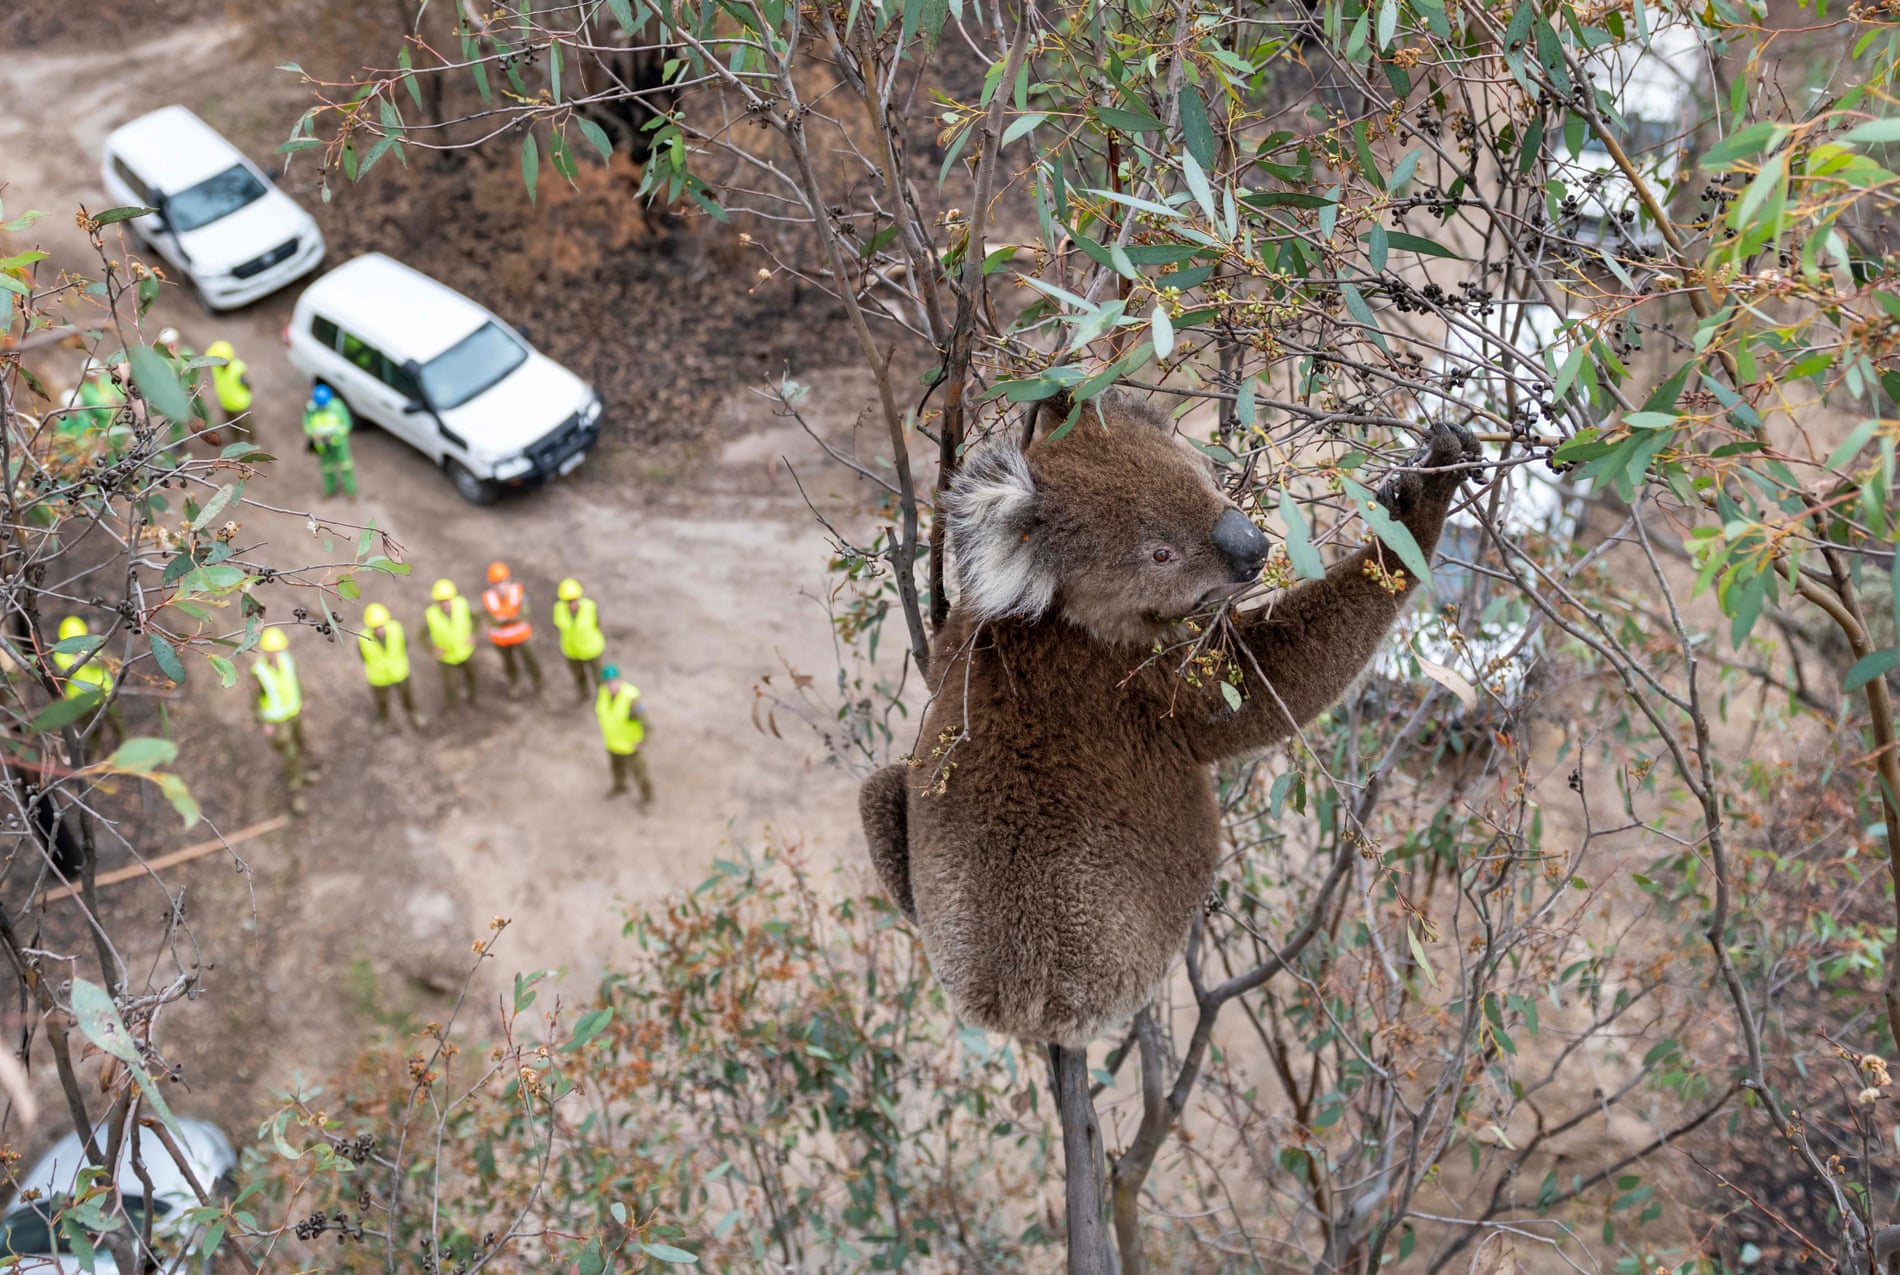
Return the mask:
[[[1596,86],[1609,93],[1617,144],[1666,207],[1682,152],[1700,124],[1700,97],[1708,86],[1702,42],[1682,21],[1659,25],[1647,40],[1624,40],[1590,63]],[[1636,188],[1623,175],[1609,148],[1588,133],[1571,156],[1558,143],[1556,177],[1577,198],[1577,238],[1598,243],[1634,243],[1655,249],[1662,232],[1644,213]]]

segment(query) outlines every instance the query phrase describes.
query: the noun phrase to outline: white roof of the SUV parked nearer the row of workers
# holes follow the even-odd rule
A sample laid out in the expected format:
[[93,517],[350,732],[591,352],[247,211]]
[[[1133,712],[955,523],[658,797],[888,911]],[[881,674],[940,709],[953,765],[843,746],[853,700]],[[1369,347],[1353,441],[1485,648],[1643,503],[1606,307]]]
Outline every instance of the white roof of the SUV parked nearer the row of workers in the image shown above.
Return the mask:
[[382,253],[331,270],[298,298],[393,359],[428,363],[494,315],[446,283]]

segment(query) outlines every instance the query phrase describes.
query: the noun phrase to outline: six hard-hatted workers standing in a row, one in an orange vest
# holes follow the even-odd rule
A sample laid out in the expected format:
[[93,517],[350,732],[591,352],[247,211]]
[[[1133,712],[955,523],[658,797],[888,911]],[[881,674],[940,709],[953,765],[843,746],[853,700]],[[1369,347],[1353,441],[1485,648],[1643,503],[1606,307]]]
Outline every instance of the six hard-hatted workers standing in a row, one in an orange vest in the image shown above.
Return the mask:
[[[481,606],[488,644],[502,656],[509,695],[519,695],[522,684],[530,694],[540,695],[543,690],[542,665],[534,654],[534,627],[526,616],[528,593],[505,562],[488,564],[488,587],[483,589]],[[654,783],[646,773],[646,758],[640,754],[640,747],[646,743],[646,707],[640,703],[640,688],[621,678],[618,665],[600,663],[606,654],[600,608],[581,591],[578,580],[560,581],[553,619],[560,633],[560,654],[574,675],[574,690],[581,703],[589,697],[595,703],[600,743],[606,745],[614,777],[608,796],[621,796],[629,790],[631,781],[640,790],[640,808],[646,809],[654,800]],[[443,678],[443,711],[452,713],[462,705],[473,709],[477,699],[475,612],[452,580],[437,580],[429,589],[424,625],[435,667]],[[300,720],[304,695],[296,678],[296,663],[289,652],[289,637],[283,629],[266,629],[258,638],[258,652],[253,665],[258,682],[256,714],[283,760],[283,783],[291,792],[291,811],[304,813],[304,787],[310,783],[312,771]],[[357,652],[363,657],[363,676],[369,682],[376,722],[390,720],[390,701],[395,699],[403,705],[403,714],[412,728],[428,726],[416,709],[416,695],[408,684],[408,631],[382,602],[370,602],[363,608]]]

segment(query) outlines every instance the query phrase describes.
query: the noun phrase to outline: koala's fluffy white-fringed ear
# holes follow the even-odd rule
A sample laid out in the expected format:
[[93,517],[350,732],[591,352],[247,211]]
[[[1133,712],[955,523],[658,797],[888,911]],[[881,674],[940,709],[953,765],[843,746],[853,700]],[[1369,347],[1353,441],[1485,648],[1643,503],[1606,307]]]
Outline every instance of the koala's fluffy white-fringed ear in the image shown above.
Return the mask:
[[977,623],[1036,619],[1056,597],[1056,574],[1041,561],[1036,534],[1041,496],[1030,462],[1013,439],[996,439],[963,456],[942,515],[948,519],[958,604]]

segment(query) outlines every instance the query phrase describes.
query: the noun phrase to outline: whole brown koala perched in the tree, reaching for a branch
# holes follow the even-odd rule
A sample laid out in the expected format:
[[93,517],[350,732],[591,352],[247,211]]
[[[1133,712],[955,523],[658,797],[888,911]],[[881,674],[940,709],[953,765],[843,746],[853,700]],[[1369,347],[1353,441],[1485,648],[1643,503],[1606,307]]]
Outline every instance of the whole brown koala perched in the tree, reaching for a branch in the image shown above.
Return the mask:
[[[1366,667],[1402,597],[1378,542],[1235,616],[1243,701],[1155,642],[1254,585],[1267,538],[1172,437],[1112,393],[1062,437],[999,439],[944,496],[958,597],[904,766],[859,794],[872,865],[965,1022],[1085,1047],[1148,1005],[1214,884],[1210,766],[1284,739]],[[1434,428],[1381,500],[1427,555],[1478,454]],[[1265,680],[1262,680],[1262,675]]]

